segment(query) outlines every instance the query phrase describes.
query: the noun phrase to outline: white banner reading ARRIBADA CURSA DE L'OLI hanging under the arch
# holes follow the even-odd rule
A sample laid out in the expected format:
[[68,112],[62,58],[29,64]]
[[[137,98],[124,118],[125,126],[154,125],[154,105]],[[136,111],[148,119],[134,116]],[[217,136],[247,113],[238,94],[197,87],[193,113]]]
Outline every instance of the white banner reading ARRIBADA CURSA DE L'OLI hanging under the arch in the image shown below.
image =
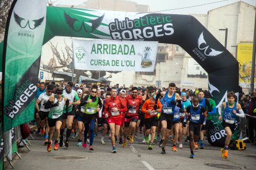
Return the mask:
[[155,70],[158,42],[72,39],[74,66],[78,70]]

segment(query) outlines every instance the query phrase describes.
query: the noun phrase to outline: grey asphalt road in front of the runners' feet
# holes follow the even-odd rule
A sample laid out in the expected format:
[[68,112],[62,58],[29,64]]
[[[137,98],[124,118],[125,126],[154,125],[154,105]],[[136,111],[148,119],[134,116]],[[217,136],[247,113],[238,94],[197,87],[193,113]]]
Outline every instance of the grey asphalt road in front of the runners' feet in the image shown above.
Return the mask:
[[[161,154],[158,145],[148,150],[147,144],[142,144],[142,134],[135,139],[134,144],[122,148],[116,144],[117,153],[111,153],[112,147],[108,137],[105,145],[100,144],[100,136],[95,137],[94,151],[88,147],[77,147],[75,139],[69,142],[69,148],[61,147],[58,151],[48,153],[43,145],[43,137],[36,136],[30,140],[31,151],[25,147],[20,151],[22,159],[14,158],[15,169],[255,169],[256,145],[246,144],[243,151],[229,150],[227,159],[221,158],[219,147],[208,144],[205,149],[195,150],[195,158],[190,159],[189,142],[183,142],[184,148],[177,152],[171,150],[172,142],[168,142],[166,154]],[[118,142],[118,140],[117,140]],[[158,142],[158,141],[156,141]],[[59,160],[58,156],[61,157]],[[71,157],[66,157],[71,156]],[[72,160],[76,159],[76,160]],[[7,167],[9,169],[10,166]]]

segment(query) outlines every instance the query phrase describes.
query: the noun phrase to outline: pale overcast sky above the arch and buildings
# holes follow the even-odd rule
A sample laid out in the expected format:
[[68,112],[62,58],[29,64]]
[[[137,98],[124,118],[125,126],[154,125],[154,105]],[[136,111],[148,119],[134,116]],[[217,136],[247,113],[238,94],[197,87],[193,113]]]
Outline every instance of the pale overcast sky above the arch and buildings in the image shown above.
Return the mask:
[[[83,4],[86,0],[52,0],[54,4],[74,5]],[[118,0],[116,0],[118,1]],[[207,14],[208,10],[215,9],[221,6],[226,6],[237,2],[238,0],[128,0],[137,2],[137,4],[147,4],[150,6],[150,11],[161,11],[169,14]],[[242,0],[247,4],[256,6],[255,0]],[[203,5],[205,4],[205,5]],[[197,7],[193,7],[197,6]]]

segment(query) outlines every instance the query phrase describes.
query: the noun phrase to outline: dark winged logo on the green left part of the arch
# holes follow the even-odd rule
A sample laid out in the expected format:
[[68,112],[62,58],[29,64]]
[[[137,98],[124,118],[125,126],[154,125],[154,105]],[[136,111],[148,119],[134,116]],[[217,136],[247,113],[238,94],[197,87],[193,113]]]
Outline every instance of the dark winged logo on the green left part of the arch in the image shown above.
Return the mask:
[[[100,26],[100,23],[102,22],[104,16],[105,14],[103,14],[101,17],[96,18],[95,20],[89,20],[88,23],[91,23],[92,26],[90,26],[90,28],[87,28],[88,26],[85,26],[85,21],[80,22],[77,18],[70,17],[69,14],[64,12],[64,17],[66,19],[67,25],[69,25],[69,27],[76,32],[81,31],[83,28],[83,30],[85,30],[87,33],[92,33],[92,31],[96,30]],[[81,23],[81,25],[75,26],[75,22],[79,22]]]

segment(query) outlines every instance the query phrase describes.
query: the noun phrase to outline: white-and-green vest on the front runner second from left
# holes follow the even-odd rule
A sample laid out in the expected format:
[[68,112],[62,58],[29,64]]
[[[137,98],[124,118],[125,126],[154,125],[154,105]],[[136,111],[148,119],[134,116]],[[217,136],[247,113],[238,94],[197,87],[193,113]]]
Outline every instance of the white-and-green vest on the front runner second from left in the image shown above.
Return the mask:
[[[58,102],[57,96],[54,95],[54,103],[57,103],[57,102]],[[62,115],[64,105],[65,105],[65,100],[64,100],[64,95],[62,95],[62,100],[61,100],[61,102],[59,101],[59,105],[56,107],[50,108],[48,118],[50,118],[50,119],[59,118],[59,116]]]

